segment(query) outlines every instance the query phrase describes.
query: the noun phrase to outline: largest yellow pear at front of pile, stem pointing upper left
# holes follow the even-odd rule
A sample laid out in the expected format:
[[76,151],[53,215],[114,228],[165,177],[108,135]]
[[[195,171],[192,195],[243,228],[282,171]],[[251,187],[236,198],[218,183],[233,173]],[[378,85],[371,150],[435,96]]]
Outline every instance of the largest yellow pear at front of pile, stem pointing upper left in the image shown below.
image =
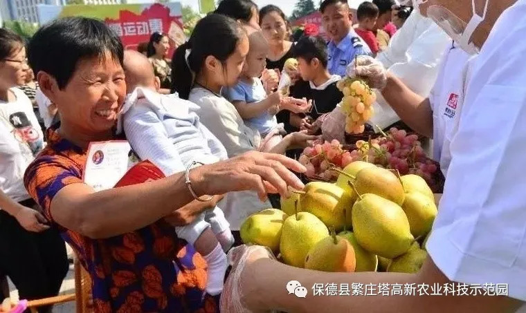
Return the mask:
[[384,258],[406,253],[415,241],[403,209],[372,193],[361,196],[354,203],[352,228],[363,248]]

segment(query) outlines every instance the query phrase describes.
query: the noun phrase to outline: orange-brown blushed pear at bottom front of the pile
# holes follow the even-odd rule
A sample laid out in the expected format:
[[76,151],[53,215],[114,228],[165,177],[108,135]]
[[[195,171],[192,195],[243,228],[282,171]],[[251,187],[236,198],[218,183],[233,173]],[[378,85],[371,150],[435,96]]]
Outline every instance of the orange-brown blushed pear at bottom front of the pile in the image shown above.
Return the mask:
[[305,268],[323,272],[354,272],[354,248],[341,236],[328,236],[318,242],[305,258]]

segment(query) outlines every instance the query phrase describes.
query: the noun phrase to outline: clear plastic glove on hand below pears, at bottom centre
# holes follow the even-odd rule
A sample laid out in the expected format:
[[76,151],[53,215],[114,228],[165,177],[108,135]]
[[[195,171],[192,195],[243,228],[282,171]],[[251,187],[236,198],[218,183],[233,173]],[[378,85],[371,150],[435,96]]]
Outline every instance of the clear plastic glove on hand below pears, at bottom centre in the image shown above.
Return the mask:
[[[232,265],[230,274],[223,287],[221,294],[221,301],[219,302],[220,312],[228,313],[252,313],[252,312],[268,312],[259,310],[257,307],[248,307],[245,303],[243,290],[244,284],[249,284],[251,279],[245,269],[248,263],[254,262],[260,258],[271,258],[275,260],[274,254],[267,247],[259,245],[241,245],[230,249],[228,255],[228,263]],[[250,288],[247,288],[249,291]]]

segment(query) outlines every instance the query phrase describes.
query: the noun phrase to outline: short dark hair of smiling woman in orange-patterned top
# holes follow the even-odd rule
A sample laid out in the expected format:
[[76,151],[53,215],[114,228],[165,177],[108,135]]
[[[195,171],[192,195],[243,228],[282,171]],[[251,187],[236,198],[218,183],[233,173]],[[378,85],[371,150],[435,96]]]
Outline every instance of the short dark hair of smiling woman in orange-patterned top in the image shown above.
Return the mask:
[[44,71],[64,88],[82,59],[105,57],[107,53],[123,65],[123,44],[98,19],[65,17],[42,26],[28,45],[28,59],[35,75]]

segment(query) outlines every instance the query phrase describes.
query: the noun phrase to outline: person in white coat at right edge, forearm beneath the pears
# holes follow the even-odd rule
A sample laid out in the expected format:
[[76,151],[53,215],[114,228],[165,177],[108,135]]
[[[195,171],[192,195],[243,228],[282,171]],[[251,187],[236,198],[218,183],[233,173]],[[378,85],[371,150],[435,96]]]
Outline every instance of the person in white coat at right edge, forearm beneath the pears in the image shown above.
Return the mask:
[[[424,266],[417,274],[325,273],[278,263],[261,247],[239,247],[221,298],[224,312],[323,312],[327,305],[332,312],[526,312],[526,44],[517,41],[526,27],[526,0],[428,0],[419,9],[445,23],[441,26],[466,52],[480,49]],[[374,71],[360,67],[357,73]],[[306,287],[307,297],[288,295],[289,281]],[[316,283],[414,284],[435,286],[435,292],[455,283],[456,292],[312,296]],[[475,294],[473,286],[479,287]],[[462,296],[463,290],[468,295]]]

